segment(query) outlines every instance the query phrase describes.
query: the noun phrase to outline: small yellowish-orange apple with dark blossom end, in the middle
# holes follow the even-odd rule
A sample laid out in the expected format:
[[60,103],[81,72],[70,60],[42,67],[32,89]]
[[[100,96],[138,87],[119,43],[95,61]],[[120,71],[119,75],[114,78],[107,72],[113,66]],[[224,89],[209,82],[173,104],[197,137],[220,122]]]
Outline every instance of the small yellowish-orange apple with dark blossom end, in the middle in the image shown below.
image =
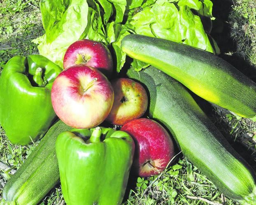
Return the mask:
[[114,89],[114,104],[107,121],[114,125],[123,125],[140,118],[147,110],[148,97],[144,87],[128,78],[111,81]]

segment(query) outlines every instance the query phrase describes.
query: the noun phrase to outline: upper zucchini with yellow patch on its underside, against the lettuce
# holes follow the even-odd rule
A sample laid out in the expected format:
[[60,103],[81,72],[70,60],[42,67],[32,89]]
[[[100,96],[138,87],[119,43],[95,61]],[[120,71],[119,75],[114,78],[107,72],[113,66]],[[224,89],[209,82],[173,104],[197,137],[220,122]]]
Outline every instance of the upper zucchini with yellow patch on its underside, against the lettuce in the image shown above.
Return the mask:
[[125,36],[121,47],[128,56],[155,66],[201,98],[241,117],[256,115],[256,83],[216,55],[137,34]]

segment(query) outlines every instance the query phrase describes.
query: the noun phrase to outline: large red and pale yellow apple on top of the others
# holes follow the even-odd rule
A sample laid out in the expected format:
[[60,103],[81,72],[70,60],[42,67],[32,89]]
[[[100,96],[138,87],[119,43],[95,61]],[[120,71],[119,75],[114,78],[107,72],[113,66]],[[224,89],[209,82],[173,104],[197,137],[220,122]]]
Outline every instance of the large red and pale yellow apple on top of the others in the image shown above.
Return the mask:
[[54,80],[51,102],[57,116],[73,128],[93,128],[108,116],[114,92],[95,68],[72,66]]

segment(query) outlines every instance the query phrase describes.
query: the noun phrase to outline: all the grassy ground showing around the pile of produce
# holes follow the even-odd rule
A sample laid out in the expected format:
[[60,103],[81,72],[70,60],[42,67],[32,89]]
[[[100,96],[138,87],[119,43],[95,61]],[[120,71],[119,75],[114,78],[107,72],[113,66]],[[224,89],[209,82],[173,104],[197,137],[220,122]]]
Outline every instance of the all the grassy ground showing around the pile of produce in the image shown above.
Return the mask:
[[[256,71],[256,3],[254,0],[221,2],[213,0],[215,16],[226,22],[222,33],[214,34],[223,51],[221,57],[231,64],[242,65],[240,70],[249,77]],[[228,8],[226,10],[226,7]],[[40,21],[39,0],[0,0],[0,67],[15,55],[38,53],[32,39],[44,32]],[[226,43],[225,43],[226,42]],[[221,130],[232,146],[252,164],[256,157],[256,123],[237,118],[229,112],[201,103],[207,115]],[[35,145],[14,146],[0,128],[0,161],[11,169],[19,169]],[[0,182],[11,173],[0,170]],[[2,196],[0,183],[0,197]],[[179,154],[174,164],[161,175],[150,178],[131,178],[126,193],[126,204],[238,204],[225,198],[205,175]],[[193,198],[195,197],[195,198]],[[201,197],[201,198],[200,198]],[[201,200],[202,199],[202,200]],[[58,185],[44,198],[42,204],[63,204]]]

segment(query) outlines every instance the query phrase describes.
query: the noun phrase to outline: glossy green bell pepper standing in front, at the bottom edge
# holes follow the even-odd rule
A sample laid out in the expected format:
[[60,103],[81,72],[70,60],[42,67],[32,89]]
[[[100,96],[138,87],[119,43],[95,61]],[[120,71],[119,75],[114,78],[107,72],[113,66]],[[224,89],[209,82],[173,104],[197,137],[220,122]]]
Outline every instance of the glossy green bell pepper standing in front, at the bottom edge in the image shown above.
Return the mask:
[[112,128],[60,134],[56,154],[67,205],[121,204],[133,153],[132,137]]

